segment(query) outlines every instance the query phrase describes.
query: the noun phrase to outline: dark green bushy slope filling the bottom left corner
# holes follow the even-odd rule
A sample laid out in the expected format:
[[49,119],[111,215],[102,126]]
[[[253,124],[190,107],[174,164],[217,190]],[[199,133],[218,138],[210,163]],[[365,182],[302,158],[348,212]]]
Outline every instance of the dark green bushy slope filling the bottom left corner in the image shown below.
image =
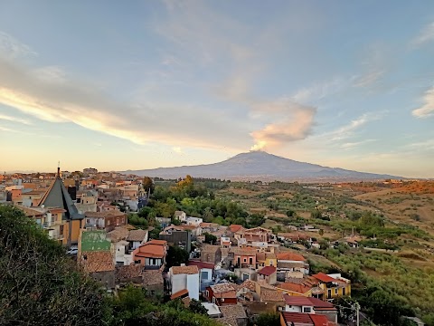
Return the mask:
[[0,324],[103,325],[99,284],[13,206],[0,205]]

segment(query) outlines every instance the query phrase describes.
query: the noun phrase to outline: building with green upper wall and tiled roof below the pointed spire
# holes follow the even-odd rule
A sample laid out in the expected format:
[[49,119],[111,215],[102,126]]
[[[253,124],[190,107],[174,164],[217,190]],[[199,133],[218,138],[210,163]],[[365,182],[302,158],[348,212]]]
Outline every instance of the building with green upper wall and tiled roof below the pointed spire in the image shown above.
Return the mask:
[[115,287],[112,246],[104,231],[81,230],[77,262],[90,277],[108,289]]

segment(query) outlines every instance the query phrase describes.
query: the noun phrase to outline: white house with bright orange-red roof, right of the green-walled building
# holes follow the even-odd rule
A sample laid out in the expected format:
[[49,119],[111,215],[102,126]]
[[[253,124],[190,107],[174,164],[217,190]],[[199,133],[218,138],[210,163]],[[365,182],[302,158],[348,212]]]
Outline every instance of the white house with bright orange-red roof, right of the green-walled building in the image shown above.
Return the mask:
[[164,268],[167,248],[167,242],[165,240],[148,241],[134,249],[133,261],[135,264],[145,266],[146,270]]

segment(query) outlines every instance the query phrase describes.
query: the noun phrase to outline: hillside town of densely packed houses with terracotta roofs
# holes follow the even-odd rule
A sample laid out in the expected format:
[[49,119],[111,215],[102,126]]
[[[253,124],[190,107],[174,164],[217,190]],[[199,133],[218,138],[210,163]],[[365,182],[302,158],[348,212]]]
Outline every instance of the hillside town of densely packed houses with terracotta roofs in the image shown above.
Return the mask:
[[[146,206],[142,180],[95,168],[4,175],[0,202],[22,209],[108,292],[134,284],[151,297],[200,301],[210,318],[232,326],[264,312],[280,313],[282,326],[337,325],[334,302],[351,296],[351,282],[340,273],[311,273],[307,258],[283,245],[303,240],[315,247],[317,229],[273,234],[175,211],[156,217],[156,234],[128,224],[127,213]],[[184,263],[169,261],[174,246],[189,254]]]

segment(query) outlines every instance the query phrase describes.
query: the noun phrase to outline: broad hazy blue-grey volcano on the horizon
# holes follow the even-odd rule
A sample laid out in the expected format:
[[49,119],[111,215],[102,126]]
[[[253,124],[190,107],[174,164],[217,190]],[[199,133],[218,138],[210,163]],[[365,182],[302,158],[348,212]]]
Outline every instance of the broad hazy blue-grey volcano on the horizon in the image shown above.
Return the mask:
[[178,178],[215,177],[231,180],[282,181],[358,181],[367,179],[402,178],[357,172],[344,168],[327,168],[316,164],[281,158],[264,151],[250,151],[219,163],[177,168],[127,170],[122,173],[137,176]]

